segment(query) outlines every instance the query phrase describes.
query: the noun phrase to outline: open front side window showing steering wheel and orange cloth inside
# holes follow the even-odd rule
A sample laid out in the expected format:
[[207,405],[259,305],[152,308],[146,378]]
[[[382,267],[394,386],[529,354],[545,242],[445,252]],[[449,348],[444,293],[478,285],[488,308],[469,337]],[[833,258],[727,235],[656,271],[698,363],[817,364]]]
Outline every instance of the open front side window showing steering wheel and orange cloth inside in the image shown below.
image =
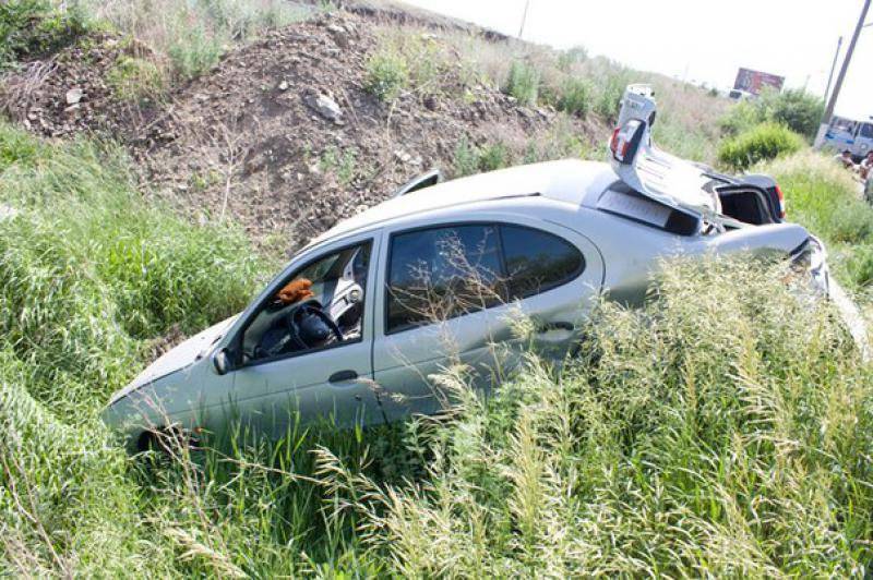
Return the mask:
[[370,244],[316,259],[267,299],[243,333],[242,363],[359,340]]

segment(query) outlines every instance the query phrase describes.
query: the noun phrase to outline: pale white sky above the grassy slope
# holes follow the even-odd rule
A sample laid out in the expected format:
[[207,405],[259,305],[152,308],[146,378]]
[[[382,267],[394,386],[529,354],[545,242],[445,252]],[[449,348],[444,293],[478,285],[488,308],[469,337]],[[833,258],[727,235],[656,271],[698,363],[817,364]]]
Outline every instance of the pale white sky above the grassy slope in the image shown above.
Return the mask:
[[[405,0],[518,35],[526,0]],[[786,77],[824,95],[837,39],[840,61],[863,0],[529,0],[523,38],[584,46],[634,69],[708,86],[733,85],[737,69]],[[873,22],[873,8],[866,22]],[[836,112],[873,116],[873,26],[862,29]]]

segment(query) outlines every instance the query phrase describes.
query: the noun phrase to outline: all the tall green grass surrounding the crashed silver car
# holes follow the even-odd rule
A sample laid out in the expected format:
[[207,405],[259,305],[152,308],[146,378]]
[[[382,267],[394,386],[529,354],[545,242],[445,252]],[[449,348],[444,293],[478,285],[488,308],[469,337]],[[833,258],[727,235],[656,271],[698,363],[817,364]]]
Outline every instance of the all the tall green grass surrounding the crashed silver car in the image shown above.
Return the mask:
[[[271,264],[136,190],[111,144],[0,125],[0,572],[84,577],[859,576],[873,376],[782,265],[673,263],[605,302],[563,368],[440,420],[237,431],[129,458],[98,420],[153,341],[239,307]],[[770,166],[847,234],[844,174]],[[818,197],[829,197],[820,200]],[[850,206],[859,209],[857,206]],[[840,233],[842,231],[842,233]],[[848,239],[847,238],[847,239]],[[495,396],[493,396],[495,395]]]

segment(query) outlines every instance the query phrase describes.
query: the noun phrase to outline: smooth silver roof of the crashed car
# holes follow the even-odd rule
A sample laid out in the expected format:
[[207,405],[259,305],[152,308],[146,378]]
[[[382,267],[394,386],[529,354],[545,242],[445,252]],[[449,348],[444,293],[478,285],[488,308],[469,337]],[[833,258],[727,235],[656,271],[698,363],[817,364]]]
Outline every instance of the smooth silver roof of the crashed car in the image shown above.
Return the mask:
[[573,205],[593,205],[596,197],[619,177],[601,161],[564,159],[525,165],[455,179],[414,191],[345,219],[315,238],[309,245],[338,238],[356,230],[479,202],[540,195]]

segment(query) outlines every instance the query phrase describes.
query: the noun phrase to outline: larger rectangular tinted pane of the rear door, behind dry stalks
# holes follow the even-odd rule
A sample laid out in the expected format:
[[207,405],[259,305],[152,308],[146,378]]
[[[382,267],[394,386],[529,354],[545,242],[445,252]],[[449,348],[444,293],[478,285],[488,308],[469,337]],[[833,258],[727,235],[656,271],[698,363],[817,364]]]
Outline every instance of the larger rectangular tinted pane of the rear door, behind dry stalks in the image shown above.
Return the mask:
[[385,333],[505,301],[497,226],[452,226],[392,238]]

